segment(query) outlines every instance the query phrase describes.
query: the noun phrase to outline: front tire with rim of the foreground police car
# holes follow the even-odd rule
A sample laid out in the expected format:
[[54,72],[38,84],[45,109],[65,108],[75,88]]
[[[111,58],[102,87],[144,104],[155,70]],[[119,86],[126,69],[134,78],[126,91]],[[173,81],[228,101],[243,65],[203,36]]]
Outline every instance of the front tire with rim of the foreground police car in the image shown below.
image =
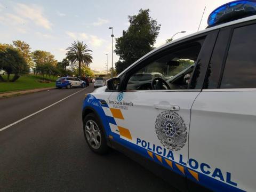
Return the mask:
[[97,154],[108,153],[106,135],[103,126],[94,113],[85,116],[83,121],[84,138],[89,148]]

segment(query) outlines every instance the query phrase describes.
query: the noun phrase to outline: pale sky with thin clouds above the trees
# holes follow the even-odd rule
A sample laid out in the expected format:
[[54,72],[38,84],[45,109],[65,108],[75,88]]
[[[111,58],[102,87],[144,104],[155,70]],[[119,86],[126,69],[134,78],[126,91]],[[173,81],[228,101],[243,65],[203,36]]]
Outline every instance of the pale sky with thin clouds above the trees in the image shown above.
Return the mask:
[[[115,38],[129,27],[128,15],[149,9],[150,16],[161,24],[155,47],[179,31],[174,39],[195,33],[204,7],[199,30],[207,27],[209,14],[225,0],[0,0],[0,43],[14,40],[28,43],[31,51],[44,50],[55,55],[58,61],[65,58],[66,49],[74,41],[83,41],[91,49],[94,70],[111,67],[111,29]],[[115,39],[113,39],[115,49]],[[108,54],[108,62],[107,55]],[[113,65],[119,57],[114,53]]]

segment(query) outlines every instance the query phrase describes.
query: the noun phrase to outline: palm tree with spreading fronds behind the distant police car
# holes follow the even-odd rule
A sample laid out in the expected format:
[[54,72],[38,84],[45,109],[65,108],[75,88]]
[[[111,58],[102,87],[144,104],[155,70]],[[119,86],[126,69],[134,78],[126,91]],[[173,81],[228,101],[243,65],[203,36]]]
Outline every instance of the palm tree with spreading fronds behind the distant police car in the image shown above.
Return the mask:
[[79,68],[78,68],[78,75],[81,76],[81,64],[86,65],[87,67],[92,62],[92,50],[89,50],[88,46],[84,44],[83,42],[75,42],[71,44],[70,47],[68,47],[66,50],[68,52],[66,53],[67,59],[74,64],[78,61]]

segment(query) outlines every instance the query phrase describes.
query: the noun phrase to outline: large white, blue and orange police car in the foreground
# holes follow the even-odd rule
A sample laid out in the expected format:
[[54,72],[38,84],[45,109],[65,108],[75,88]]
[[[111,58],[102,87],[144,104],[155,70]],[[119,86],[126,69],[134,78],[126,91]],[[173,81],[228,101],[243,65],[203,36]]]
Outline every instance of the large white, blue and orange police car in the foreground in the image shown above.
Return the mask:
[[[91,150],[146,159],[181,191],[256,191],[255,13],[255,1],[222,5],[207,29],[149,52],[87,94]],[[131,86],[147,73],[172,78]]]

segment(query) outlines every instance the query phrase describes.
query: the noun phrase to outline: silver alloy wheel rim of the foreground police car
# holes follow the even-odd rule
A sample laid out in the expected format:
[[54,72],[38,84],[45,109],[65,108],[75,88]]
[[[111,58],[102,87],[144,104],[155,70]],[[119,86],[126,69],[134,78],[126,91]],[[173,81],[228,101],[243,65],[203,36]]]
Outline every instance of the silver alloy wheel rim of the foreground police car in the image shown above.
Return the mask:
[[101,145],[101,134],[97,123],[89,120],[85,123],[85,135],[89,145],[94,149],[99,149]]

